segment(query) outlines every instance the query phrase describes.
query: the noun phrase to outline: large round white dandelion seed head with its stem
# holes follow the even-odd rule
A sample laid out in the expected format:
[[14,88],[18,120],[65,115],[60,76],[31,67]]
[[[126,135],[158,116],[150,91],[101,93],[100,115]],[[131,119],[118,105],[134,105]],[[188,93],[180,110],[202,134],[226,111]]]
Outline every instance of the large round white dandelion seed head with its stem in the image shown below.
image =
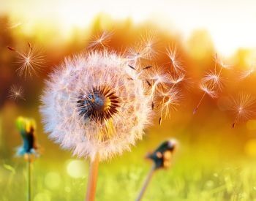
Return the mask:
[[62,148],[91,159],[87,200],[94,200],[99,161],[143,136],[150,104],[143,80],[116,53],[74,56],[50,75],[40,109],[45,131]]

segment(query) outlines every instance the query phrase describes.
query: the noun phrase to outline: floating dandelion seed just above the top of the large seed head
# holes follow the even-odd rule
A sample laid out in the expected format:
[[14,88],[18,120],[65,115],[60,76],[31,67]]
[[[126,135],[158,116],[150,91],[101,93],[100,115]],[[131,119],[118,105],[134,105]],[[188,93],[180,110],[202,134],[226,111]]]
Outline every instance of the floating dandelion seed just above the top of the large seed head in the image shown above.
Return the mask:
[[88,48],[103,48],[104,50],[108,47],[108,43],[110,42],[111,37],[113,36],[113,32],[103,31],[102,34],[97,34],[91,39],[89,42]]

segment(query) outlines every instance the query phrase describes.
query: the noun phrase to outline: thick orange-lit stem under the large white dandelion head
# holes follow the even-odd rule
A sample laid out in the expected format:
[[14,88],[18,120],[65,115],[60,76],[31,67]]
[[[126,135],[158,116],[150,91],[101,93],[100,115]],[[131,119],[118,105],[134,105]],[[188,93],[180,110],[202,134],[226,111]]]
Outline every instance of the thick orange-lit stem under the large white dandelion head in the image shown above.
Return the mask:
[[86,201],[94,201],[95,199],[98,167],[99,167],[99,153],[96,153],[96,156],[94,157],[94,159],[91,160],[91,163],[90,163]]

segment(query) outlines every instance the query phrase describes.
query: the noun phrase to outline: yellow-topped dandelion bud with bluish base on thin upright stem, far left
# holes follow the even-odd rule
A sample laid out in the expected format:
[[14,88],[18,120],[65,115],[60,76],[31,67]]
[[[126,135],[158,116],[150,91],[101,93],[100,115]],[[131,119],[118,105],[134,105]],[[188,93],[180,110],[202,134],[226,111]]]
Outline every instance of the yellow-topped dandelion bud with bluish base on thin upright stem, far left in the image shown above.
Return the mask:
[[31,200],[31,162],[38,156],[38,145],[35,135],[36,123],[34,119],[18,117],[16,126],[23,139],[23,145],[18,148],[17,155],[24,156],[28,162],[28,200]]

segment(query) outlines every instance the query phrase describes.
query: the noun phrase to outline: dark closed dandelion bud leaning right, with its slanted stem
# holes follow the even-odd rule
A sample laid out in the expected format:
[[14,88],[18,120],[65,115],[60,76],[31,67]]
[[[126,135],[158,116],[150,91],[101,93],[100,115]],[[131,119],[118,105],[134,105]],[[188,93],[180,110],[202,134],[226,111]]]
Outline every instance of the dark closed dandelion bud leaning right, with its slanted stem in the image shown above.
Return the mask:
[[148,156],[146,156],[154,163],[151,167],[151,170],[148,172],[146,181],[144,182],[143,188],[140,190],[140,194],[138,195],[136,201],[140,201],[142,199],[148,183],[151,181],[151,178],[154,175],[154,172],[162,168],[167,169],[168,167],[170,167],[173,152],[176,149],[176,144],[176,140],[167,140],[159,145],[159,147],[153,153],[149,153]]

